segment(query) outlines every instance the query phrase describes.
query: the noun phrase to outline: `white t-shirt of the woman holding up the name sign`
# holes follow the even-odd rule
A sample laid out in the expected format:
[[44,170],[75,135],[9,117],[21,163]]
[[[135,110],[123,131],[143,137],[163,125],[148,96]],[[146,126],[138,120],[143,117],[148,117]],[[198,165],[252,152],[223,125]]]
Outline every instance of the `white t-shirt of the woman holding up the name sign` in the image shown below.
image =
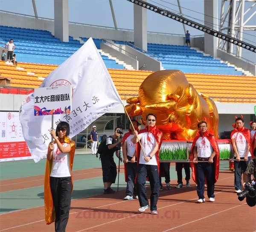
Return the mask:
[[[62,146],[70,146],[69,143],[62,143]],[[58,149],[57,143],[54,143],[52,151],[52,177],[67,177],[71,176],[70,172],[70,152],[61,153]]]

